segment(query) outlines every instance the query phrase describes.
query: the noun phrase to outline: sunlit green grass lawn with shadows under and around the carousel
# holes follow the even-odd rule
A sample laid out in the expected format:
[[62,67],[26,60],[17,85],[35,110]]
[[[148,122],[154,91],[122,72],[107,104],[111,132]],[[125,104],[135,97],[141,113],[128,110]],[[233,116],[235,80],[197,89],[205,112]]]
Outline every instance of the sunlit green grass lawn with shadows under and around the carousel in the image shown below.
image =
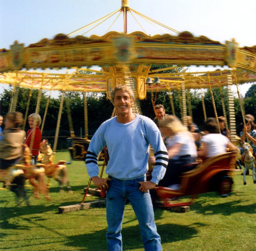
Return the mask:
[[[68,160],[68,152],[58,152],[56,161],[60,159]],[[73,194],[59,193],[51,180],[52,200],[47,202],[43,196],[35,200],[28,187],[31,207],[25,202],[18,207],[14,193],[0,190],[0,250],[106,250],[105,208],[58,213],[59,206],[81,202],[88,183],[84,162],[68,165],[68,173]],[[201,194],[187,213],[157,208],[163,250],[256,250],[256,184],[252,176],[247,176],[245,186],[241,175],[235,175],[234,182],[231,196]],[[144,250],[131,205],[125,209],[122,235],[124,250]]]

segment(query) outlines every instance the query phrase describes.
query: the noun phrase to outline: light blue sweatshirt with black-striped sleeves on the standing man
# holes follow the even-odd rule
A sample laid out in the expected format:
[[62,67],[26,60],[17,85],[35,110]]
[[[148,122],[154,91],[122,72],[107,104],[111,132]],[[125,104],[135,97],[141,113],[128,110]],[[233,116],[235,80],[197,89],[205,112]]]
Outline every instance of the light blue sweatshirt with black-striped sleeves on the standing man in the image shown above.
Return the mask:
[[144,177],[148,170],[149,144],[156,157],[151,182],[158,184],[165,175],[168,153],[156,124],[138,114],[126,124],[118,123],[113,117],[100,125],[88,147],[87,172],[90,177],[98,176],[97,156],[106,145],[109,152],[108,175],[121,180]]

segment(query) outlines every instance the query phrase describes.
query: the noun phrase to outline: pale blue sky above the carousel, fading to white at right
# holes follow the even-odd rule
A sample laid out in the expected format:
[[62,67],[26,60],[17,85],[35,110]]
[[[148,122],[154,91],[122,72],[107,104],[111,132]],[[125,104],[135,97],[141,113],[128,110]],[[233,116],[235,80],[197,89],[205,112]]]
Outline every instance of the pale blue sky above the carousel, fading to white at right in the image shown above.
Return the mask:
[[[15,40],[29,46],[43,38],[53,39],[58,33],[68,34],[120,7],[121,0],[0,0],[0,48],[10,49]],[[204,35],[221,43],[235,38],[239,47],[256,45],[256,0],[129,0],[129,7],[179,32],[189,31],[196,37]],[[84,36],[106,34],[117,15]],[[147,35],[177,35],[134,16]],[[130,14],[127,23],[127,33],[144,32]],[[121,14],[109,31],[123,30]],[[239,86],[240,93],[244,95],[250,85]]]

